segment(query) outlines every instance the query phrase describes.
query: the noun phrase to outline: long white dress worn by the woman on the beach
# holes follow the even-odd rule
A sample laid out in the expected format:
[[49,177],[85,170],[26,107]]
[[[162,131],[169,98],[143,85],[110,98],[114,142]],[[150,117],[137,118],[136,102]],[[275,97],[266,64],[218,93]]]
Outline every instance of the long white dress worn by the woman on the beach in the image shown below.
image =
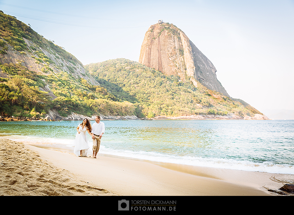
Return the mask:
[[82,157],[87,157],[89,149],[86,136],[87,128],[86,126],[83,128],[81,125],[79,125],[78,131],[80,133],[76,132],[74,154],[76,154],[76,156],[79,156],[81,154],[80,151],[82,150]]

